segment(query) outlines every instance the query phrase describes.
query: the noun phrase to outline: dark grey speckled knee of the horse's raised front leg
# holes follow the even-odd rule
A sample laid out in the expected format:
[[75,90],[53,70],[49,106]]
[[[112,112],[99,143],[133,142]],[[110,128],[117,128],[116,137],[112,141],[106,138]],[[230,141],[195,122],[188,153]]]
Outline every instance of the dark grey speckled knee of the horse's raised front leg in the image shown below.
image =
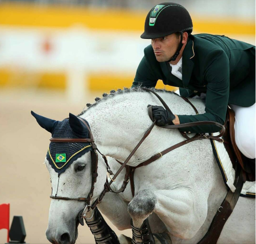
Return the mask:
[[147,218],[155,209],[157,199],[153,191],[142,190],[128,204],[132,218]]

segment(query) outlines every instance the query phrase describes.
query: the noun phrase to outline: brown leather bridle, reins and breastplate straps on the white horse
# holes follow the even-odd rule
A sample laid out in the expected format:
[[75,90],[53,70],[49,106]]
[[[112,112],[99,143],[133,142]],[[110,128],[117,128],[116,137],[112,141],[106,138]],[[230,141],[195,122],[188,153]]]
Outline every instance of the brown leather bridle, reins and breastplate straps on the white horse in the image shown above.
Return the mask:
[[[142,90],[146,90],[149,91],[151,93],[153,93],[163,104],[163,106],[165,107],[165,109],[170,110],[170,108],[166,105],[166,103],[163,101],[163,99],[154,91],[152,91],[151,89],[148,88],[141,88]],[[192,105],[192,103],[187,99],[182,97],[186,102],[188,102],[193,109],[195,110],[196,114],[198,114],[198,111],[196,110],[196,108]],[[185,132],[180,132],[182,134],[183,137],[186,138],[186,140],[179,142],[167,149],[165,149],[162,152],[157,153],[156,155],[152,156],[151,158],[149,158],[148,160],[142,162],[140,165],[136,166],[136,167],[130,167],[127,165],[127,163],[129,162],[129,160],[131,159],[131,157],[135,154],[135,152],[138,150],[138,148],[140,147],[140,145],[142,144],[142,142],[149,136],[150,132],[152,131],[153,127],[155,126],[156,121],[153,120],[153,116],[152,116],[152,106],[148,107],[148,111],[149,111],[149,117],[150,119],[153,121],[153,123],[149,126],[149,128],[147,129],[147,131],[145,132],[144,136],[141,138],[141,140],[138,142],[138,144],[135,146],[135,148],[132,150],[132,152],[130,153],[130,155],[126,158],[126,160],[121,163],[121,167],[117,170],[117,172],[113,175],[108,162],[107,162],[107,158],[104,154],[102,154],[99,149],[97,148],[97,145],[95,144],[92,132],[90,127],[87,125],[87,123],[78,117],[78,119],[80,119],[84,125],[87,127],[88,131],[89,131],[89,138],[50,138],[51,142],[89,142],[91,143],[92,146],[92,151],[91,151],[91,156],[92,156],[92,185],[91,185],[91,190],[87,196],[87,198],[68,198],[68,197],[60,197],[57,196],[57,193],[55,194],[55,196],[51,195],[50,198],[52,199],[60,199],[60,200],[77,200],[77,201],[84,201],[86,202],[86,206],[83,210],[80,211],[78,217],[80,218],[86,218],[85,214],[88,210],[90,210],[90,208],[93,210],[98,203],[100,203],[102,201],[102,199],[104,198],[105,194],[107,192],[113,192],[113,193],[120,193],[123,192],[129,182],[129,176],[131,171],[133,171],[135,168],[141,167],[141,166],[145,166],[148,165],[152,162],[154,162],[155,160],[161,158],[164,154],[182,146],[185,144],[188,144],[189,142],[192,142],[194,140],[198,140],[198,139],[214,139],[217,140],[219,142],[225,142],[223,139],[221,139],[220,137],[223,136],[223,134],[225,133],[225,127],[223,125],[221,125],[220,123],[214,122],[214,121],[199,121],[199,122],[192,122],[192,123],[186,123],[186,124],[180,124],[180,125],[167,125],[167,126],[160,126],[162,128],[168,128],[168,129],[178,129],[178,128],[186,128],[186,127],[193,127],[193,126],[198,126],[198,125],[216,125],[218,127],[221,128],[220,134],[218,136],[209,136],[209,135],[205,135],[205,134],[196,134],[193,137],[188,137],[187,134]],[[98,177],[98,153],[97,151],[102,155],[105,164],[107,166],[107,173],[108,176],[110,178],[110,181],[108,181],[108,179],[106,180],[105,184],[104,184],[104,190],[102,191],[102,193],[100,194],[100,196],[90,205],[91,199],[93,197],[93,192],[94,192],[94,188],[95,188],[95,183],[97,181],[97,177]],[[115,181],[116,177],[119,175],[119,173],[123,170],[123,168],[126,168],[126,172],[125,172],[125,177],[124,177],[124,181],[123,184],[121,186],[120,189],[118,189],[117,191],[113,191],[110,187],[110,185]],[[113,175],[113,177],[111,177],[110,175]],[[58,191],[57,191],[58,192]],[[133,194],[134,195],[134,194]],[[93,216],[93,215],[92,215]],[[80,220],[79,220],[80,221]],[[80,221],[81,223],[81,221]]]

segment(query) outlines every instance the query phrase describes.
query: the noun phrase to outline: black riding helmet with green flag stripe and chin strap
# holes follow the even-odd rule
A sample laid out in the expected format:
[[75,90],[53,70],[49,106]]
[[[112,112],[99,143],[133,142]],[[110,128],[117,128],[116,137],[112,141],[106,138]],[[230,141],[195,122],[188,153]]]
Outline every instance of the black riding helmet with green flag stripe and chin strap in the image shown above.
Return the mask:
[[161,38],[179,32],[181,42],[174,56],[168,61],[174,61],[182,48],[183,32],[192,32],[193,24],[189,12],[178,3],[160,3],[153,7],[145,21],[143,39]]

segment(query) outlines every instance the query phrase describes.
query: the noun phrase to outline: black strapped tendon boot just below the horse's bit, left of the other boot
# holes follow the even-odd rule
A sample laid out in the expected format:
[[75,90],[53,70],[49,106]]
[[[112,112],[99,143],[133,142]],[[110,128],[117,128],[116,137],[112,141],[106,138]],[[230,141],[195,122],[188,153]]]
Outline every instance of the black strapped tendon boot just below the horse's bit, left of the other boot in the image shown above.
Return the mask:
[[97,207],[93,217],[85,222],[93,233],[96,244],[120,244],[115,232],[107,225]]

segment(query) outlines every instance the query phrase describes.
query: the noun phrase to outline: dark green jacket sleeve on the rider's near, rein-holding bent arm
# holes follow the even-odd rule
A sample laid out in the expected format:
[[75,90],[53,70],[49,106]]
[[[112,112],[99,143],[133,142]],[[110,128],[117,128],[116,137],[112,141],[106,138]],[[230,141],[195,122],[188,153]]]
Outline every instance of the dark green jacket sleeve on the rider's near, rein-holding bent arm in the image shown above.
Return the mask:
[[[212,50],[205,59],[204,78],[206,81],[205,113],[198,115],[178,115],[180,123],[215,121],[224,125],[229,100],[229,59],[222,49]],[[214,125],[182,128],[191,133],[213,133],[220,131]]]

